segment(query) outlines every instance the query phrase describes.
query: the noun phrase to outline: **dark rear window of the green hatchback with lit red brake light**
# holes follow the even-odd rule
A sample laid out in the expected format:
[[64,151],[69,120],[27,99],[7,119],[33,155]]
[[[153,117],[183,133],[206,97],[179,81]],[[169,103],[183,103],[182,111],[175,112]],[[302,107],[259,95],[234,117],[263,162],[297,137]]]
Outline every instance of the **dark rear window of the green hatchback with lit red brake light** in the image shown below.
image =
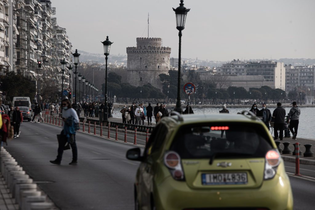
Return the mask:
[[264,157],[272,149],[265,129],[255,123],[209,123],[182,126],[170,150],[181,158]]

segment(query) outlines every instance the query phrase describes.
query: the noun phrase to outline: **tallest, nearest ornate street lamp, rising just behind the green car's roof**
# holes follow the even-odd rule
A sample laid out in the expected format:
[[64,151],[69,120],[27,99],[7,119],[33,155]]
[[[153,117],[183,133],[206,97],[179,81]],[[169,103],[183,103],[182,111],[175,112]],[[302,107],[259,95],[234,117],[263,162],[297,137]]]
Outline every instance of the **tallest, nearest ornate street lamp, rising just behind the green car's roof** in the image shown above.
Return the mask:
[[178,32],[179,48],[178,48],[177,102],[176,102],[176,107],[175,107],[175,111],[179,113],[182,113],[181,103],[180,103],[180,88],[181,88],[180,87],[180,65],[181,65],[181,36],[182,36],[181,31],[184,30],[185,28],[186,15],[190,10],[184,7],[183,2],[184,0],[180,0],[180,4],[179,4],[180,6],[177,7],[176,9],[173,8],[176,15],[176,29],[179,31]]

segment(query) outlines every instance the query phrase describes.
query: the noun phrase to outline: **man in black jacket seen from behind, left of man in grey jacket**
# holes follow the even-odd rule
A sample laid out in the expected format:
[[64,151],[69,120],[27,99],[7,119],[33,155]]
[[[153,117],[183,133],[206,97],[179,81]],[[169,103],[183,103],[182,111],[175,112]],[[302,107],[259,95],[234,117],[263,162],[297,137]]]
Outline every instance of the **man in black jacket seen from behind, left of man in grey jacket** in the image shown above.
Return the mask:
[[274,121],[274,135],[275,140],[278,139],[278,130],[279,130],[279,138],[282,141],[283,139],[283,130],[285,125],[285,109],[282,108],[281,103],[278,102],[277,108],[273,111],[272,117],[275,119]]

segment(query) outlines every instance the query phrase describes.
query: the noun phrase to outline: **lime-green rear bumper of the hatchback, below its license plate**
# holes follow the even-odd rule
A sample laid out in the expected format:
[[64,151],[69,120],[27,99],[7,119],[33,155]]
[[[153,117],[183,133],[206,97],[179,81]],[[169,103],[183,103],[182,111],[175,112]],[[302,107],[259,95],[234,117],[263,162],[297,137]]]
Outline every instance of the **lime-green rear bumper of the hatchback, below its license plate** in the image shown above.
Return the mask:
[[217,207],[261,207],[270,210],[292,210],[293,197],[287,176],[276,175],[265,180],[257,189],[196,190],[186,182],[169,177],[154,189],[154,203],[157,209],[183,210]]

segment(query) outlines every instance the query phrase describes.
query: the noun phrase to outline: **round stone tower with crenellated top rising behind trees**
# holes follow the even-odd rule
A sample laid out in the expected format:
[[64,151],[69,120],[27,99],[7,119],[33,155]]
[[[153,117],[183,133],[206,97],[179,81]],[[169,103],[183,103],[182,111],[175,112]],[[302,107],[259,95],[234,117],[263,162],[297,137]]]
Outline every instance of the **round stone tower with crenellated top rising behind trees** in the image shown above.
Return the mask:
[[168,74],[170,53],[171,48],[162,46],[162,38],[137,38],[137,47],[127,47],[128,82],[160,88],[159,74]]

